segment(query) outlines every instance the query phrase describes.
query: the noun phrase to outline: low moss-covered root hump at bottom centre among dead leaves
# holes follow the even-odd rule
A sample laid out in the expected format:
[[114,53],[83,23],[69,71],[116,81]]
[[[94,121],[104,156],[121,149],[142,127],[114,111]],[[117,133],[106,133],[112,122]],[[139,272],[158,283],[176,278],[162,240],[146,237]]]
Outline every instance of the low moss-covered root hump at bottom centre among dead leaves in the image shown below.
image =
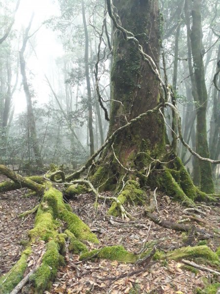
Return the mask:
[[137,260],[138,255],[125,250],[122,245],[106,246],[101,249],[94,249],[90,252],[83,253],[80,256],[80,260],[85,259],[109,259],[117,260],[123,263],[134,263]]

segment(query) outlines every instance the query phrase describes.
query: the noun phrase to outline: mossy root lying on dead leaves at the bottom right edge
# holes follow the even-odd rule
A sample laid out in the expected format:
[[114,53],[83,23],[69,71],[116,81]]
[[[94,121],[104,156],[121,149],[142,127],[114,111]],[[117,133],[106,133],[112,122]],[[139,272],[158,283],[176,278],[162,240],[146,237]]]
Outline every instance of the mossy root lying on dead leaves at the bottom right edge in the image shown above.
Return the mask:
[[187,246],[164,253],[162,251],[157,251],[154,255],[155,259],[168,259],[168,260],[181,260],[181,259],[194,259],[197,257],[202,257],[212,264],[220,265],[220,259],[217,253],[213,252],[208,246]]

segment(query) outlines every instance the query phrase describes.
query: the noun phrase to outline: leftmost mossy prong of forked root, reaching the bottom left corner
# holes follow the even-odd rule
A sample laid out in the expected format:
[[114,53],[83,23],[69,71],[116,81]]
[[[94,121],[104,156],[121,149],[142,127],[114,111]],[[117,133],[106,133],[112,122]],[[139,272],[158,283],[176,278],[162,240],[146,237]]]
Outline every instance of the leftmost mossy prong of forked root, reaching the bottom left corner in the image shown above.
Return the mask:
[[21,258],[14,267],[0,278],[0,293],[10,293],[22,280],[24,271],[27,268],[27,259],[30,254],[31,249],[28,247],[22,252]]

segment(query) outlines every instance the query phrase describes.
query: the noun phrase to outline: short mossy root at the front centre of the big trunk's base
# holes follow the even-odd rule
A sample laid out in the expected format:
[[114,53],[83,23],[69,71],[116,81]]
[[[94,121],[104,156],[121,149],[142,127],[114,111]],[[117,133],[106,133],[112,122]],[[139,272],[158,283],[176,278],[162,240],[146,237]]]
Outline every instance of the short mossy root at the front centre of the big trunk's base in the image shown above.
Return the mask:
[[145,202],[144,192],[140,189],[138,182],[129,180],[123,191],[117,196],[117,201],[111,204],[108,211],[109,215],[121,216],[121,206],[125,205],[127,202],[132,204],[143,204]]

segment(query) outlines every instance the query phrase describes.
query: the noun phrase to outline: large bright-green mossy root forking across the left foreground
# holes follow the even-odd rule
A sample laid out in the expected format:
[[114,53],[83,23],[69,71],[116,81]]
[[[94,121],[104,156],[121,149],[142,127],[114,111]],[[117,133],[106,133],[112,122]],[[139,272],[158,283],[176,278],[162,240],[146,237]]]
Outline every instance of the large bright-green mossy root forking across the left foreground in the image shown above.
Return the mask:
[[[45,190],[37,210],[34,228],[28,232],[28,248],[23,251],[16,265],[0,278],[3,293],[11,292],[22,280],[27,268],[27,258],[31,254],[31,245],[38,241],[46,242],[46,252],[40,267],[30,276],[30,281],[36,293],[39,294],[50,287],[59,266],[64,264],[66,239],[70,239],[71,250],[78,250],[78,252],[87,250],[86,245],[80,240],[98,243],[96,236],[90,232],[88,226],[70,211],[68,205],[65,205],[62,193],[48,185]],[[65,233],[58,233],[58,228],[61,226],[59,220],[66,222],[68,230]]]

